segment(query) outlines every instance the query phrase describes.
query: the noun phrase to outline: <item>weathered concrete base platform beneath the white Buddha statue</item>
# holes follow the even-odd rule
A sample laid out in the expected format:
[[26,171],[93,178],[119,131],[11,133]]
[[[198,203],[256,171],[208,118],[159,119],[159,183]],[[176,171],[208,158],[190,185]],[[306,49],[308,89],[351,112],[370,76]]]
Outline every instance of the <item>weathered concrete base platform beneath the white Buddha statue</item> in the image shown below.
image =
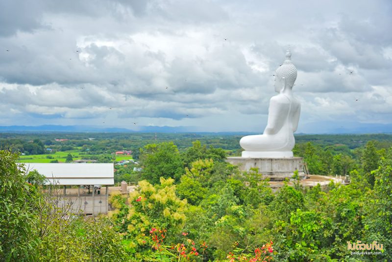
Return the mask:
[[257,168],[259,173],[270,178],[271,181],[282,181],[291,178],[295,170],[298,170],[300,179],[306,177],[302,157],[227,157],[226,161],[238,165],[241,171],[250,171],[251,168]]

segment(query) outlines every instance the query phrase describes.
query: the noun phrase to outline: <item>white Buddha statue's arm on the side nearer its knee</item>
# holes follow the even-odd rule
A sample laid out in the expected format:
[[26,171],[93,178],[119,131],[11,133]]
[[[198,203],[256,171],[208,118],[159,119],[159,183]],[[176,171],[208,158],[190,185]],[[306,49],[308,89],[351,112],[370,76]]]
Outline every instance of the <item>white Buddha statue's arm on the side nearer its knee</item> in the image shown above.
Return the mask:
[[268,122],[264,134],[276,134],[283,126],[287,117],[285,106],[277,101],[276,98],[270,100],[268,108]]

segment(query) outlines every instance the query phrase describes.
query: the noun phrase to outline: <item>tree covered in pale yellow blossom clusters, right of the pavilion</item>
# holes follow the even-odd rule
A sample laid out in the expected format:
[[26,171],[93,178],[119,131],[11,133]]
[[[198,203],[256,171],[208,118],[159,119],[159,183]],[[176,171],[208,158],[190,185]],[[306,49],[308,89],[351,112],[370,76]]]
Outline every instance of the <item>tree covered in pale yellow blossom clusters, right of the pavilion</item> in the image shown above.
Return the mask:
[[[109,215],[123,225],[120,227],[126,228],[123,235],[128,251],[140,255],[149,250],[151,243],[147,236],[152,228],[166,229],[167,241],[174,242],[171,236],[180,235],[186,220],[187,201],[176,196],[172,178],[161,178],[160,184],[155,186],[146,180],[138,185],[137,190],[129,194],[128,205],[119,200],[120,195],[110,198],[116,210]],[[126,216],[122,216],[123,210],[127,210]]]

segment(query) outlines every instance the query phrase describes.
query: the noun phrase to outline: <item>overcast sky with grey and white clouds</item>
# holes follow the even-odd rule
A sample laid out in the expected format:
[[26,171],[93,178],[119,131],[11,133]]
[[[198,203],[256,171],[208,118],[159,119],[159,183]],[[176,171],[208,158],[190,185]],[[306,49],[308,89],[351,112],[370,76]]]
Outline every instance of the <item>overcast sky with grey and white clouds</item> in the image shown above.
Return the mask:
[[288,45],[297,132],[392,124],[389,0],[1,0],[0,25],[0,126],[262,132]]

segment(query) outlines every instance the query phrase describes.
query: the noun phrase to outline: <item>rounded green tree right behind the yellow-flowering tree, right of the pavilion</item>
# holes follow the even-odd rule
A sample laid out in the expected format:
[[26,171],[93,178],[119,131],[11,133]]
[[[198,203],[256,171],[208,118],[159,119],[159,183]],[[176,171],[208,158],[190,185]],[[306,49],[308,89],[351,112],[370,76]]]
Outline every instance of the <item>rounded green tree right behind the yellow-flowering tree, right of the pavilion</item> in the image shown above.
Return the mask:
[[179,181],[184,172],[180,153],[172,142],[149,144],[141,149],[142,179],[159,183],[160,177]]

